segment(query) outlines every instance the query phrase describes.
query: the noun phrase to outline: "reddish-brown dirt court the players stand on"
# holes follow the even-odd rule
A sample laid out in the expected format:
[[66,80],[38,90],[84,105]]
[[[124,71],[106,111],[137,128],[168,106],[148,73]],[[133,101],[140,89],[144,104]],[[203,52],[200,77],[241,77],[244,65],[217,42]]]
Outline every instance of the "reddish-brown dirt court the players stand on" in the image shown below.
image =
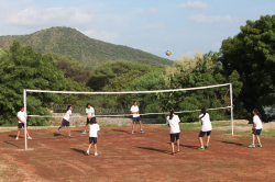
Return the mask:
[[[180,134],[180,153],[172,156],[167,126],[101,127],[98,153],[85,156],[88,134],[73,128],[0,133],[0,181],[275,181],[275,138],[262,137],[263,148],[250,149],[249,136],[213,130],[205,151],[198,150],[199,128]],[[136,128],[138,129],[138,128]],[[206,140],[206,138],[205,138]],[[94,148],[90,150],[94,153]]]

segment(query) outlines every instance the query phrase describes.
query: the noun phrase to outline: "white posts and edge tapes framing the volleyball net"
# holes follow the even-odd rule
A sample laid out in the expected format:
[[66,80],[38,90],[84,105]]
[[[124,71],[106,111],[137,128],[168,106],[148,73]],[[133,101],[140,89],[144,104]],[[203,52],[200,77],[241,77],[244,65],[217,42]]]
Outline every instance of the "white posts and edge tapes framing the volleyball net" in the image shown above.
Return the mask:
[[[218,87],[224,87],[224,86],[230,86],[230,106],[219,107],[219,109],[208,109],[208,110],[231,109],[231,126],[232,126],[232,135],[233,135],[233,93],[232,93],[232,83],[206,86],[206,87],[197,87],[197,88],[186,88],[186,89],[151,90],[151,91],[127,91],[127,92],[76,92],[76,91],[51,91],[51,90],[24,89],[23,90],[23,102],[24,102],[24,107],[25,107],[25,113],[26,113],[26,92],[69,93],[69,94],[133,94],[133,93],[179,92],[179,91],[188,91],[188,90],[201,90],[201,89],[209,89],[209,88],[218,88]],[[194,112],[194,111],[184,111],[184,112]],[[176,113],[183,113],[183,112],[176,112]],[[167,113],[145,113],[145,114],[141,114],[141,115],[146,115],[146,114],[167,114]],[[129,115],[131,115],[131,114],[129,114]],[[30,116],[35,116],[35,115],[30,115]],[[111,115],[109,115],[109,116],[111,116]],[[119,115],[116,115],[116,116],[119,116]],[[125,115],[122,115],[122,116],[125,116]],[[25,126],[24,126],[24,132],[25,132],[25,150],[26,150],[28,149],[26,122],[25,122]]]

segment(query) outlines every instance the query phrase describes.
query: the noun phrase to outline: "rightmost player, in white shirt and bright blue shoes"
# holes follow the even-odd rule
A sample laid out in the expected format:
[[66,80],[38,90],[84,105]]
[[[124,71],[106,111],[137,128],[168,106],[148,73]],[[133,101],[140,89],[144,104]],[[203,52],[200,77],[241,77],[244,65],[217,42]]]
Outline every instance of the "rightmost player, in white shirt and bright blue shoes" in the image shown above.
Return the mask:
[[258,113],[256,109],[253,110],[252,112],[254,114],[253,116],[253,126],[252,126],[252,145],[249,146],[249,148],[255,147],[255,136],[257,138],[257,147],[263,147],[260,140],[260,134],[263,129],[263,124],[262,124],[262,115]]

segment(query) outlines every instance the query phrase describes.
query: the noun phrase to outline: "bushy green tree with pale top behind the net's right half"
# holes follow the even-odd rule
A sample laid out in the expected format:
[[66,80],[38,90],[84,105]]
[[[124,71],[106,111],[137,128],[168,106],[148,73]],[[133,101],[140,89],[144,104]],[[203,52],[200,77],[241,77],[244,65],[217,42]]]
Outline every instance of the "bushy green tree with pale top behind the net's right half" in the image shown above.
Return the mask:
[[[178,64],[177,70],[169,77],[170,89],[195,88],[204,86],[221,84],[232,82],[234,98],[239,95],[242,83],[238,72],[232,72],[230,77],[223,77],[217,72],[217,64],[211,59],[205,59],[207,55],[189,59],[188,62]],[[186,64],[189,69],[186,69]],[[212,88],[196,91],[183,91],[162,94],[163,111],[174,107],[176,111],[194,111],[202,107],[223,107],[229,106],[229,87]],[[229,118],[229,111],[210,111],[212,120]],[[179,114],[184,122],[195,122],[199,113]]]

